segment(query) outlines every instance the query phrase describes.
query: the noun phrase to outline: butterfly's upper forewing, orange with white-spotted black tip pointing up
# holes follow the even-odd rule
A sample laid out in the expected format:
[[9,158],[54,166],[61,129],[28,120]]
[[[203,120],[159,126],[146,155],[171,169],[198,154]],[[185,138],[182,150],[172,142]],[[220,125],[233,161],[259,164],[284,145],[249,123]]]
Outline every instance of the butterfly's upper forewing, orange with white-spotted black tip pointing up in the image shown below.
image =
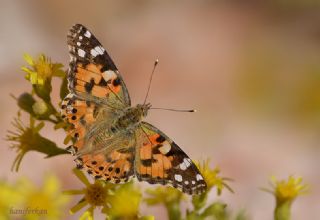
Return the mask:
[[68,46],[71,92],[113,108],[130,106],[130,97],[117,67],[86,27],[76,24],[70,29]]

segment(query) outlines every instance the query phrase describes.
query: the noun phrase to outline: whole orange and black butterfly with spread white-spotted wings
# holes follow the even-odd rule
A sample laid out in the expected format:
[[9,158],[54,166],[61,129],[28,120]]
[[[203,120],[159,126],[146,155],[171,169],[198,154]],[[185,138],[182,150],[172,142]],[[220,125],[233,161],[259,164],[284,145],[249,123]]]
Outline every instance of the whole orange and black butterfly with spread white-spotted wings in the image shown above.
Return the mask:
[[69,94],[61,116],[70,123],[77,167],[95,179],[125,183],[136,176],[200,194],[206,182],[192,160],[162,131],[143,121],[151,104],[131,106],[126,85],[101,43],[83,25],[68,34]]

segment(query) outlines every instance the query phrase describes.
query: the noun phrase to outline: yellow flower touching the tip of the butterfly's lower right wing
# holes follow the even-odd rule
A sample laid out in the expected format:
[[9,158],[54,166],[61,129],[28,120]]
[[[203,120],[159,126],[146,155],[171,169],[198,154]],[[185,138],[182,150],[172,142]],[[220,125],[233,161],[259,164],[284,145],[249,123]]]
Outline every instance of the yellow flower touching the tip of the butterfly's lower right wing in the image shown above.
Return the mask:
[[209,160],[203,161],[202,163],[195,161],[195,165],[198,167],[205,182],[207,183],[208,190],[210,190],[212,187],[217,187],[218,195],[222,193],[224,188],[227,188],[230,192],[233,192],[231,187],[226,183],[226,181],[230,181],[231,179],[219,176],[219,167],[211,169],[209,167]]

